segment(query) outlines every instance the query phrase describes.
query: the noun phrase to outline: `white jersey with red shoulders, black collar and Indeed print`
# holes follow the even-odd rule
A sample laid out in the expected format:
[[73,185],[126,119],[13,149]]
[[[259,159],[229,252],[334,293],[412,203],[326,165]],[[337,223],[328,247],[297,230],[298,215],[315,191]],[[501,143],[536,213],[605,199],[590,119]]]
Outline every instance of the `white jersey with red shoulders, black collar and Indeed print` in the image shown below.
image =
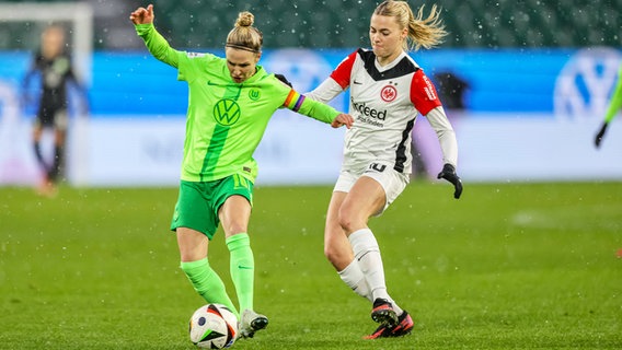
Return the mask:
[[419,113],[437,132],[444,162],[457,165],[456,135],[436,89],[406,52],[380,67],[373,51],[358,49],[306,95],[326,103],[348,88],[355,122],[346,131],[342,171],[360,174],[370,164],[380,163],[410,174],[412,130]]

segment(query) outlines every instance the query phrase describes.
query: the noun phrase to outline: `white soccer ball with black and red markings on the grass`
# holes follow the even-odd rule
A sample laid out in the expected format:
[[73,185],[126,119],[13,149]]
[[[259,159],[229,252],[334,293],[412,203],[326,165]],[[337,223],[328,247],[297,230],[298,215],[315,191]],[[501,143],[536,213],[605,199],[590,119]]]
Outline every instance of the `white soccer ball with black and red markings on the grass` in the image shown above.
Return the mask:
[[222,304],[197,308],[189,322],[191,341],[205,349],[228,348],[238,336],[238,317]]

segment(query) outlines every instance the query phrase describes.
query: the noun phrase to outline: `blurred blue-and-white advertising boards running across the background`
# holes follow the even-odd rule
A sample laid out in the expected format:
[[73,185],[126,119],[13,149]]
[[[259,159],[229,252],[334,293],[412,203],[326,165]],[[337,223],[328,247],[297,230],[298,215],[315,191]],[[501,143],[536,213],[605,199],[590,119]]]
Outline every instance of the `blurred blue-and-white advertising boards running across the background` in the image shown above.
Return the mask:
[[[266,50],[260,63],[303,93],[350,52]],[[622,163],[615,161],[622,159],[621,118],[599,150],[592,141],[618,78],[620,50],[423,50],[413,58],[439,90],[457,132],[464,180],[622,179]],[[28,63],[27,52],[0,52],[0,184],[33,184],[41,177],[30,135],[36,100],[22,104]],[[70,183],[175,186],[186,83],[147,51],[96,52],[91,67],[85,74],[91,77],[90,116],[70,125]],[[346,92],[332,105],[347,110],[347,102]],[[255,153],[257,183],[332,183],[344,130],[292,115],[279,110],[270,121]],[[434,179],[441,154],[425,118],[417,119],[413,138]]]

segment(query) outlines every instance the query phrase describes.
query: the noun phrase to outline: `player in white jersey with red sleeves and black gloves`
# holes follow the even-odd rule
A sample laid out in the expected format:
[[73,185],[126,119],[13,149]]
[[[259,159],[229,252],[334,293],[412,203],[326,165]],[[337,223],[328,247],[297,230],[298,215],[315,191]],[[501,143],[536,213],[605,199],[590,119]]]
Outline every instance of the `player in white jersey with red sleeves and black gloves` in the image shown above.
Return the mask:
[[384,1],[370,21],[372,50],[346,57],[308,97],[329,102],[350,89],[344,162],[335,184],[324,232],[324,254],[342,280],[373,303],[378,328],[367,339],[405,336],[413,319],[389,295],[378,242],[367,222],[380,215],[404,190],[411,173],[411,138],[417,114],[425,116],[440,142],[444,168],[438,178],[462,192],[456,174],[458,145],[436,89],[407,55],[411,48],[430,48],[444,31],[436,5],[415,18],[405,1]]

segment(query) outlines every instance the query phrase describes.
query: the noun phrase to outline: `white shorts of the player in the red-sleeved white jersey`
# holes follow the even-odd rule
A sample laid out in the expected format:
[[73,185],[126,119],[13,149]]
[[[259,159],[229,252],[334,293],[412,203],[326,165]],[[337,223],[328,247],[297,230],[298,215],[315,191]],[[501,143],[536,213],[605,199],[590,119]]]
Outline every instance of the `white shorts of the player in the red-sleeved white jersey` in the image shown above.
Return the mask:
[[384,208],[377,212],[376,215],[380,215],[384,210],[387,210],[398,196],[402,194],[410,182],[407,174],[399,173],[393,167],[385,164],[371,163],[365,168],[362,174],[342,170],[333,191],[349,192],[350,188],[361,176],[373,178],[384,189],[384,195],[387,196]]

